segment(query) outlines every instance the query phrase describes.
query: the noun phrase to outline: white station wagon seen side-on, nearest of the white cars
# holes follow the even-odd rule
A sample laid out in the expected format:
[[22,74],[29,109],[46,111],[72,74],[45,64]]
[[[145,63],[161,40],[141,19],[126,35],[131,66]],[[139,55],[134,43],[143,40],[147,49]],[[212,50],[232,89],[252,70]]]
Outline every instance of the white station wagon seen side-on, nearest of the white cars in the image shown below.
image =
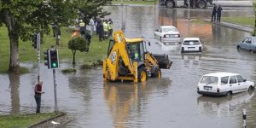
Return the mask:
[[238,73],[208,73],[197,85],[197,93],[204,96],[230,96],[252,89],[254,82],[242,79]]

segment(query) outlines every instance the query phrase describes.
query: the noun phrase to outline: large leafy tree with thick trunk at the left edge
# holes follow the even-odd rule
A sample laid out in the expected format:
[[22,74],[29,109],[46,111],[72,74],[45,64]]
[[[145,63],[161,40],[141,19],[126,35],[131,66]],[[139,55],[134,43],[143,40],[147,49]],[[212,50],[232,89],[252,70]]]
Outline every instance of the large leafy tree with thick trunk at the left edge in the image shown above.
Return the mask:
[[74,21],[79,18],[78,10],[81,15],[90,12],[84,15],[88,18],[107,15],[108,13],[102,12],[102,6],[110,1],[0,0],[0,26],[4,24],[9,32],[9,73],[20,73],[19,38],[22,41],[32,40],[32,34],[35,32],[40,32],[43,37],[45,33],[49,34],[51,22],[57,22],[58,26],[73,25]]

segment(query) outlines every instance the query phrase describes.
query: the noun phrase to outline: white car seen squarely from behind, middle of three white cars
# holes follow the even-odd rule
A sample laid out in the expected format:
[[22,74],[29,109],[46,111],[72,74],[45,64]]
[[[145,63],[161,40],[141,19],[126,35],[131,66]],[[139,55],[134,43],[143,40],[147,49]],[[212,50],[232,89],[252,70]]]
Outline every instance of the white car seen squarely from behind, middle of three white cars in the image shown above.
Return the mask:
[[203,47],[200,38],[184,38],[181,52],[201,52]]

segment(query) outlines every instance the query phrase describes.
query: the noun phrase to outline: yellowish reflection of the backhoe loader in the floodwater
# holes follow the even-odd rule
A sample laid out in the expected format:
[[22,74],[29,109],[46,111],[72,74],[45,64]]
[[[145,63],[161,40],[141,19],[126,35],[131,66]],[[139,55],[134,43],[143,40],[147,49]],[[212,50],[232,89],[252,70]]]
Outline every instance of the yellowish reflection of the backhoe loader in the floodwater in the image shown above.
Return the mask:
[[[149,84],[151,83],[151,84]],[[106,82],[104,83],[104,100],[113,116],[114,127],[137,127],[143,120],[148,109],[148,97],[150,95],[165,96],[168,94],[169,79],[148,79],[144,83],[131,82]],[[133,120],[137,123],[131,124],[131,117],[140,117]]]

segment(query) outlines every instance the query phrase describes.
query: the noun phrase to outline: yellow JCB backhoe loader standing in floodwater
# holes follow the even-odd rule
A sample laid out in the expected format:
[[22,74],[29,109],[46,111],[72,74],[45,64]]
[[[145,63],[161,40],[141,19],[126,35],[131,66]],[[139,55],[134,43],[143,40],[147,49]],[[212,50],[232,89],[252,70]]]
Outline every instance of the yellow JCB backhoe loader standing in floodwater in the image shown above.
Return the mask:
[[160,68],[170,69],[168,55],[152,55],[143,38],[125,38],[122,31],[113,32],[108,58],[103,61],[103,80],[144,82],[148,77],[160,78]]

